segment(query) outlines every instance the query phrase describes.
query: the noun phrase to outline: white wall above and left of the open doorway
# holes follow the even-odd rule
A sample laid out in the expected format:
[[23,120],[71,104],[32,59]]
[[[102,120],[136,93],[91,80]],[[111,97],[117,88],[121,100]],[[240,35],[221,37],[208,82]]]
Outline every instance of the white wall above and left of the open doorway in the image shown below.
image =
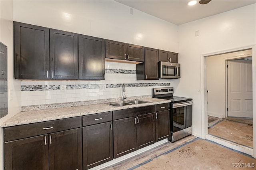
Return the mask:
[[[200,55],[256,43],[256,4],[180,25],[179,62],[182,77],[176,95],[193,98],[193,134],[202,134]],[[195,31],[199,30],[199,36]],[[255,61],[253,61],[255,62]],[[206,91],[206,89],[202,89]]]

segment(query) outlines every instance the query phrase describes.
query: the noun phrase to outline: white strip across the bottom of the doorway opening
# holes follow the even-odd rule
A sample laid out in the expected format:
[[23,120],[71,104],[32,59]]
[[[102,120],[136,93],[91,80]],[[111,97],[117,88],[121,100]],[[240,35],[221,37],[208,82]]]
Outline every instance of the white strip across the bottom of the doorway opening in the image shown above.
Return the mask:
[[242,146],[242,145],[239,145],[239,144],[236,144],[236,143],[233,143],[233,142],[230,142],[230,141],[218,138],[216,136],[212,136],[210,134],[206,134],[206,139],[208,139],[210,141],[213,141],[213,142],[216,142],[218,144],[221,144],[223,146],[226,146],[228,148],[237,150],[239,152],[243,152],[243,153],[246,153],[248,155],[253,156],[253,149],[252,148],[248,148],[246,146]]

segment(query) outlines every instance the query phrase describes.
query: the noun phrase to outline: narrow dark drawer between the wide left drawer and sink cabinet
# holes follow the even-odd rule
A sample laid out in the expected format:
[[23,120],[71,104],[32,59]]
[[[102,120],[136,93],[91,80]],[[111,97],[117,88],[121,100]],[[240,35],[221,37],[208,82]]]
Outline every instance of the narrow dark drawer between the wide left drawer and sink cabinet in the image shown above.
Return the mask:
[[83,116],[83,127],[95,125],[98,123],[112,121],[112,112],[96,113],[93,115]]

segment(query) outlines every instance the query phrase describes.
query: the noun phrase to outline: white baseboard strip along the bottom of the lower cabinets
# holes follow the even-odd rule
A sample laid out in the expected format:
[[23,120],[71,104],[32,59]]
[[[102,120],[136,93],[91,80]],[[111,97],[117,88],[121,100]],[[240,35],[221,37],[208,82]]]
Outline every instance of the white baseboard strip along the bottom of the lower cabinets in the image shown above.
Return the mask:
[[168,142],[167,139],[161,140],[161,141],[159,141],[159,142],[156,142],[156,143],[154,143],[154,144],[151,144],[151,145],[149,145],[149,146],[146,146],[146,147],[144,147],[144,148],[141,148],[141,149],[139,149],[139,150],[136,150],[136,151],[134,151],[134,152],[132,152],[132,153],[126,154],[126,155],[121,156],[121,157],[119,157],[119,158],[110,160],[109,162],[106,162],[106,163],[104,163],[104,164],[101,164],[101,165],[95,166],[95,167],[93,167],[93,168],[90,168],[90,170],[100,170],[100,169],[102,169],[102,168],[106,168],[106,167],[108,167],[108,166],[110,166],[110,165],[116,164],[116,163],[121,162],[121,161],[123,161],[123,160],[126,160],[126,159],[128,159],[128,158],[131,158],[132,156],[136,156],[136,155],[138,155],[138,154],[140,154],[140,153],[142,153],[142,152],[145,152],[145,151],[147,151],[147,150],[150,150],[150,149],[152,149],[152,148],[155,148],[156,146],[159,146],[159,145],[164,144],[164,143],[166,143],[166,142]]

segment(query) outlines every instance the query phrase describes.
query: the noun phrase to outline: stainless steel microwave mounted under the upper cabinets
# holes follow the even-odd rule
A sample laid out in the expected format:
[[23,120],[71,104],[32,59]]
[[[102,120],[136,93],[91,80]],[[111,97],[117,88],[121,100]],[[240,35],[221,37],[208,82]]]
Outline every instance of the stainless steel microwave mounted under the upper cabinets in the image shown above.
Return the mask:
[[162,78],[162,79],[180,78],[180,64],[159,61],[159,78]]

